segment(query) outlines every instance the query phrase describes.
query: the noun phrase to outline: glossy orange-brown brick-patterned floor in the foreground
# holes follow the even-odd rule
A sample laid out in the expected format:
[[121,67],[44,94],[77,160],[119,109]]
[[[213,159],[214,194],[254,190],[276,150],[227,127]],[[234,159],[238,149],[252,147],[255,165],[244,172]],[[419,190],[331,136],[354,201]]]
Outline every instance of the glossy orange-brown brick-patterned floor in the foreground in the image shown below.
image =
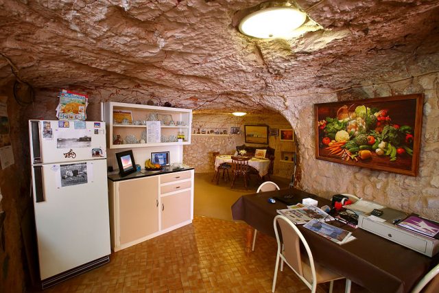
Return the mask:
[[[112,253],[105,266],[45,292],[271,292],[276,240],[258,233],[246,255],[245,231],[246,224],[195,216],[193,224]],[[344,292],[344,281],[334,287]],[[318,292],[328,288],[319,285]],[[285,268],[276,292],[309,290]]]

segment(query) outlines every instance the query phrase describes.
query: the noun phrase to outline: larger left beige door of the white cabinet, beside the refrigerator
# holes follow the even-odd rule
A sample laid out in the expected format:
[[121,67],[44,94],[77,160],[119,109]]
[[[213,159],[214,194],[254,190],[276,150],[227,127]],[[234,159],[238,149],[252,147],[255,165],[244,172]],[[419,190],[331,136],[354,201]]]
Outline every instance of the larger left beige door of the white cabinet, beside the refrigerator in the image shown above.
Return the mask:
[[158,231],[158,176],[119,183],[120,244]]

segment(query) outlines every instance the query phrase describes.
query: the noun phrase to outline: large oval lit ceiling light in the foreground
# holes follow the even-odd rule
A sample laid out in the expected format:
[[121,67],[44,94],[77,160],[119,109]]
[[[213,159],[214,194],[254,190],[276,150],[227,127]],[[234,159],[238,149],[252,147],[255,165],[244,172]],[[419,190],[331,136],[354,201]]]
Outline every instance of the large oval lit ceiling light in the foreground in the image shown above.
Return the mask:
[[292,6],[265,8],[244,17],[239,32],[256,38],[290,38],[307,14]]

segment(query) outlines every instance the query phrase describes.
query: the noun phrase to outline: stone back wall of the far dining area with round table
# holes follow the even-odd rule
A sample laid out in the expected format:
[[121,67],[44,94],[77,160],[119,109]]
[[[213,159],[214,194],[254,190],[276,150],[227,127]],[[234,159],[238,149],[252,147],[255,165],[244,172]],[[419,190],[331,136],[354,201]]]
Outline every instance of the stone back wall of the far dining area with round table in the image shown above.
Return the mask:
[[[195,172],[213,172],[213,152],[220,154],[234,154],[237,145],[245,143],[244,125],[265,124],[270,128],[292,128],[288,121],[278,113],[261,115],[246,115],[235,117],[230,114],[197,114],[193,115],[192,133],[202,130],[227,130],[227,135],[192,134],[191,145],[183,147],[183,161],[195,168]],[[239,134],[230,134],[230,127],[239,127]],[[245,143],[249,146],[259,146],[254,143]],[[291,178],[293,164],[281,162],[281,151],[294,151],[294,143],[280,141],[278,136],[269,136],[268,145],[274,148],[273,175],[282,178]],[[260,145],[266,146],[266,145]]]

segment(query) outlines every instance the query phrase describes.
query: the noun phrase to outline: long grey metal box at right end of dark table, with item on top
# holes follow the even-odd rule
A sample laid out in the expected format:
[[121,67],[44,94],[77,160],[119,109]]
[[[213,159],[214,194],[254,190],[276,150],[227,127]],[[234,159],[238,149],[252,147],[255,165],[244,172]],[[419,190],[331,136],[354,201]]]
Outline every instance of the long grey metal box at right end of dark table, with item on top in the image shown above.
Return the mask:
[[369,215],[370,213],[359,215],[359,228],[415,250],[423,255],[427,255],[428,257],[433,257],[439,252],[439,240],[407,231],[393,224],[394,221],[405,218],[406,213],[385,208],[383,209],[383,215],[378,217],[385,220],[385,222],[374,221],[368,218]]

